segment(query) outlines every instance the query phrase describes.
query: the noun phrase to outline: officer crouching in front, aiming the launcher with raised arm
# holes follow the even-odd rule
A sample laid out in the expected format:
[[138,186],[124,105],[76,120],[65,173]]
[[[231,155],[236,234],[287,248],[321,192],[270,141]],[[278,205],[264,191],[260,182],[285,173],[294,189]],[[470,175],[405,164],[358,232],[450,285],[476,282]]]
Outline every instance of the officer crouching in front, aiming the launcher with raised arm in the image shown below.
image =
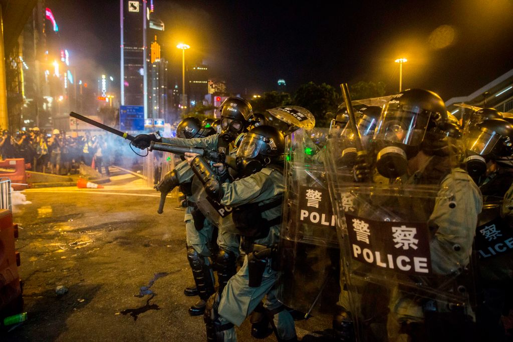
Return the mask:
[[[228,281],[222,294],[214,294],[207,303],[205,324],[209,341],[236,340],[233,325],[240,326],[264,296],[264,307],[272,316],[279,340],[297,340],[294,321],[275,296],[278,271],[273,255],[281,223],[284,150],[284,137],[277,129],[251,129],[244,136],[237,157],[242,168],[260,171],[233,183],[221,183],[202,157],[188,154],[191,168],[202,180],[206,193],[234,208],[233,220],[246,252],[239,272]],[[260,167],[255,168],[255,164]]]

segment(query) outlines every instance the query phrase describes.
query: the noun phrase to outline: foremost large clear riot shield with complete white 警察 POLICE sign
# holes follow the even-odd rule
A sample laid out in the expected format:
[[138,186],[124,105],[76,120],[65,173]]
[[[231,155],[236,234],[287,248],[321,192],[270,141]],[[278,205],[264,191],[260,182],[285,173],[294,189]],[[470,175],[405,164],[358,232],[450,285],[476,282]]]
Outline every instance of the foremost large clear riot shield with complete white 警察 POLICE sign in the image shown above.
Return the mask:
[[[403,134],[394,125],[391,134]],[[330,139],[326,149],[357,340],[473,340],[479,189],[447,137],[405,150],[379,138],[352,165],[341,158],[350,140]]]

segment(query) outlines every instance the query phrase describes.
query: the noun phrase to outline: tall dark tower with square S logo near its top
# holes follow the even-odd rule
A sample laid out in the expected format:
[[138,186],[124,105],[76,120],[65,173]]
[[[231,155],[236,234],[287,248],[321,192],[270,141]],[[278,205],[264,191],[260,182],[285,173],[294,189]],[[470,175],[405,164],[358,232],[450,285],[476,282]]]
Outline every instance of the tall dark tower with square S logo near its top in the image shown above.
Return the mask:
[[148,117],[145,0],[120,0],[121,105],[144,106]]

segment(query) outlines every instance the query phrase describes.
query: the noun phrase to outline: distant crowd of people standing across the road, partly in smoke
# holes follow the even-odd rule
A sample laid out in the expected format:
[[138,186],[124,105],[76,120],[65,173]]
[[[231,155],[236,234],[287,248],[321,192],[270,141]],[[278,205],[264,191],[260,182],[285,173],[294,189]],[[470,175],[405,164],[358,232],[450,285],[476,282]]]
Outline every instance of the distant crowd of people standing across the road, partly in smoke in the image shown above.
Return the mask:
[[29,170],[57,175],[77,174],[80,164],[96,168],[109,176],[109,165],[113,162],[109,142],[102,135],[85,132],[51,132],[37,127],[18,131],[15,135],[2,131],[0,156],[2,159],[24,158]]

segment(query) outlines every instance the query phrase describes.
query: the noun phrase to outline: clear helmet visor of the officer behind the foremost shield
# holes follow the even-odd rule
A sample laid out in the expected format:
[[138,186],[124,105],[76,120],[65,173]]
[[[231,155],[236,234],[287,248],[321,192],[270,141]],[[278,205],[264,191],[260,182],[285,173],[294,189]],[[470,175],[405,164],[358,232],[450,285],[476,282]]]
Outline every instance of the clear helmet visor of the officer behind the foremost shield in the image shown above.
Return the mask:
[[431,112],[419,107],[392,104],[385,107],[374,133],[374,139],[409,146],[418,146],[424,139]]

